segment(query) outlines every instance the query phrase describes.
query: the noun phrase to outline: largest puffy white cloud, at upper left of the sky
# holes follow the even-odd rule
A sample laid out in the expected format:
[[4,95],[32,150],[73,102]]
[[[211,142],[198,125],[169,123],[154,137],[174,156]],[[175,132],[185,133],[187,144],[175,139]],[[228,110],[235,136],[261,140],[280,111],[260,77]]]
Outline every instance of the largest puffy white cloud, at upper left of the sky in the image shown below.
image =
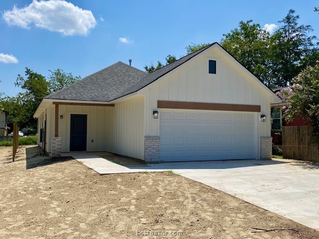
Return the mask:
[[33,0],[21,8],[14,5],[2,16],[9,25],[26,29],[34,25],[62,35],[87,35],[97,24],[90,10],[83,10],[65,0]]

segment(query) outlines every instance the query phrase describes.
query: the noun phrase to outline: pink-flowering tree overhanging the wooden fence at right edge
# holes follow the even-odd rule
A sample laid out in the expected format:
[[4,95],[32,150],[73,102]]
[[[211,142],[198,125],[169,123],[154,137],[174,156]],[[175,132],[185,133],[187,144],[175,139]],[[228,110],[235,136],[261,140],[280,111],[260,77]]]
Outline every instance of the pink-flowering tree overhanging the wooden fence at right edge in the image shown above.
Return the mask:
[[319,142],[319,61],[308,66],[291,81],[291,86],[280,94],[287,98],[283,107],[284,117],[292,121],[300,116],[309,119],[314,126],[313,136]]

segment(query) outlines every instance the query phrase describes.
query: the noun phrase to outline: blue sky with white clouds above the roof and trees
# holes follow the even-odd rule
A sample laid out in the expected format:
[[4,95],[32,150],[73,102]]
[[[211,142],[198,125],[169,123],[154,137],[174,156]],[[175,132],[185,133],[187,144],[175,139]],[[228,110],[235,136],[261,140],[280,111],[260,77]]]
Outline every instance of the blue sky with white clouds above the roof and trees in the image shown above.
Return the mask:
[[1,0],[0,92],[18,93],[14,82],[25,67],[85,77],[132,59],[144,70],[184,55],[191,42],[219,42],[240,20],[279,25],[291,8],[318,36],[315,6],[318,0]]

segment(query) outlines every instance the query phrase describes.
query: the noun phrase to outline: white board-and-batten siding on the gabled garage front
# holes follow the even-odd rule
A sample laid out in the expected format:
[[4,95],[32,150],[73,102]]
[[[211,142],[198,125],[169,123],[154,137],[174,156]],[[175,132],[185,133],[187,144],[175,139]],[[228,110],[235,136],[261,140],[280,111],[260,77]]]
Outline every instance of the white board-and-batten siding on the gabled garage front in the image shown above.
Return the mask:
[[[216,74],[208,73],[208,60],[216,61]],[[267,89],[266,89],[267,90]],[[270,136],[270,102],[271,97],[265,92],[264,86],[256,82],[245,69],[219,48],[207,49],[180,67],[161,77],[149,89],[143,92],[145,101],[145,135],[159,135],[163,133],[161,123],[165,120],[161,114],[168,109],[159,109],[160,119],[153,119],[152,111],[158,109],[158,100],[179,102],[200,102],[240,105],[260,105],[260,113],[244,113],[254,115],[254,127],[257,144],[257,155],[260,154],[260,136]],[[189,111],[190,112],[190,111]],[[197,112],[199,114],[200,111]],[[226,114],[227,112],[223,112]],[[165,113],[164,113],[165,114]],[[185,111],[187,114],[187,111]],[[236,113],[233,113],[233,117]],[[266,122],[261,122],[260,115],[268,116]],[[222,125],[222,122],[220,122]],[[236,126],[236,124],[234,124]],[[232,130],[235,130],[233,127]],[[233,133],[235,133],[233,131]],[[254,136],[255,137],[255,136]],[[160,150],[163,141],[160,139]],[[197,143],[198,144],[198,143]],[[226,145],[226,144],[224,144]],[[248,156],[247,156],[248,157]]]

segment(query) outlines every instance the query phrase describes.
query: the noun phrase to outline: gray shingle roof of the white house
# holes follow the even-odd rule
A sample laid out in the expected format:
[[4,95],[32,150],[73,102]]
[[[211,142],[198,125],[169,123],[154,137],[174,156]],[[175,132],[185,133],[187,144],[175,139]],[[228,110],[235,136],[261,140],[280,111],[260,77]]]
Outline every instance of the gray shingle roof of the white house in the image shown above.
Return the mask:
[[62,90],[46,96],[45,99],[112,101],[146,87],[214,44],[216,43],[212,43],[186,55],[152,73],[143,72],[119,61]]

